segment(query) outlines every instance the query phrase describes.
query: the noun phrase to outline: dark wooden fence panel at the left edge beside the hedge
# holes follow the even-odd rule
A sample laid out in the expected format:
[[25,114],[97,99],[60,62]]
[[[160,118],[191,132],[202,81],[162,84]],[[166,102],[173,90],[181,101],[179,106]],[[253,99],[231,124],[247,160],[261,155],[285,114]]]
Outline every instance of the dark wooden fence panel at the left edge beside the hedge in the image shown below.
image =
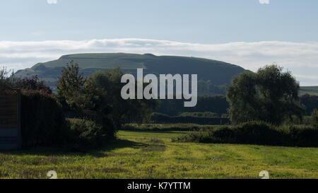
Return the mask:
[[0,90],[0,149],[21,146],[20,90]]

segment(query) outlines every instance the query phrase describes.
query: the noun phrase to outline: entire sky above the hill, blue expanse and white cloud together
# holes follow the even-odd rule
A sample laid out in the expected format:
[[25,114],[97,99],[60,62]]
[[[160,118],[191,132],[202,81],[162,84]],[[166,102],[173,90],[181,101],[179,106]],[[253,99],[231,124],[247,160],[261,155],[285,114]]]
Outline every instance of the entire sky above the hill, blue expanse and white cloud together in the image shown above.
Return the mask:
[[10,0],[0,6],[0,66],[63,54],[206,57],[257,71],[278,64],[318,85],[317,0]]

